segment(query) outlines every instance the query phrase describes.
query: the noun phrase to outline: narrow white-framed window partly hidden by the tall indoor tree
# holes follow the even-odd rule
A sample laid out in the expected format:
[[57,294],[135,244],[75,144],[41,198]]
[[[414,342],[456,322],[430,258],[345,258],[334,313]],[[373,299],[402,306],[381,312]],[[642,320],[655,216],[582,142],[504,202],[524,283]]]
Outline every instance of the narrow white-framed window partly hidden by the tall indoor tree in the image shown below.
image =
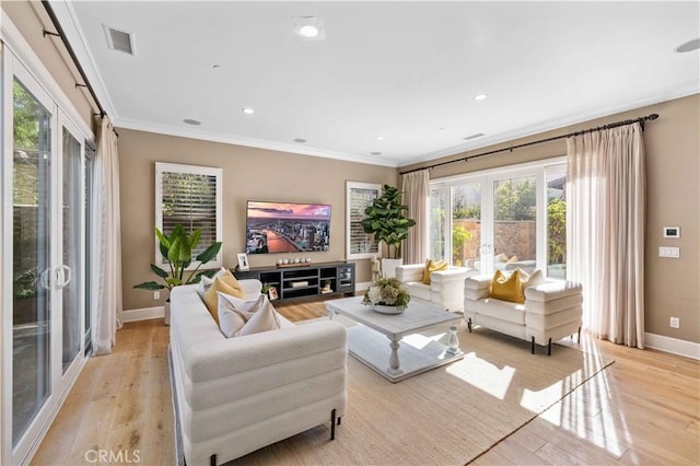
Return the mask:
[[364,209],[382,194],[382,186],[372,183],[347,182],[347,258],[368,259],[372,255],[380,255],[378,245],[374,236],[362,229]]

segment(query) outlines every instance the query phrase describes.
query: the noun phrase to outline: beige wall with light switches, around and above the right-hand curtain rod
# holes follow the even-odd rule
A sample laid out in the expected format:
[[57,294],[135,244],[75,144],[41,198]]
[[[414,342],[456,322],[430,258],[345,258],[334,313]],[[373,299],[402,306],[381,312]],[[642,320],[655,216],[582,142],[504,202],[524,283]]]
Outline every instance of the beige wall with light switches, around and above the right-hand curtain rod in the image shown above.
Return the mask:
[[[645,331],[700,342],[700,96],[698,94],[657,105],[561,128],[556,131],[465,152],[430,163],[547,139],[606,123],[657,113],[646,124],[646,259]],[[511,152],[435,167],[431,178],[564,155],[565,140],[536,144]],[[411,165],[402,170],[424,166]],[[679,240],[662,237],[663,226],[680,226]],[[680,247],[679,259],[658,257],[658,246]],[[680,328],[669,318],[679,317]]]

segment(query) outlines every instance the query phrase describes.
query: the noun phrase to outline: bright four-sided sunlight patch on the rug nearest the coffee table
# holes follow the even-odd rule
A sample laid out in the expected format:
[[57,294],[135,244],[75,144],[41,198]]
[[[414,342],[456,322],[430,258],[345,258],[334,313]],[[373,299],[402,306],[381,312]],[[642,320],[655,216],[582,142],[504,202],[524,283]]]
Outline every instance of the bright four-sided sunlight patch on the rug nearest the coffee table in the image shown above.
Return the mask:
[[481,392],[503,399],[515,375],[515,368],[506,365],[499,369],[470,352],[465,354],[462,361],[450,365],[447,373],[459,377]]

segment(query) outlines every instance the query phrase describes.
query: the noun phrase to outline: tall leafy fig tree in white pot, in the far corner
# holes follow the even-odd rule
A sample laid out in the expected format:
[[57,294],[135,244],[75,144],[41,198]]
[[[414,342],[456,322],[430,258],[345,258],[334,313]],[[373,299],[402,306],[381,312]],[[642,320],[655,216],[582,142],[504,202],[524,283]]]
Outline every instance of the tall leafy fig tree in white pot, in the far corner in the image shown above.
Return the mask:
[[401,242],[408,237],[408,231],[416,225],[416,220],[405,215],[408,206],[401,203],[401,193],[393,186],[384,185],[382,196],[374,199],[364,209],[366,215],[362,220],[365,233],[374,234],[374,241],[385,243],[388,260],[382,259],[382,271],[385,277],[394,277],[397,265],[401,264]]

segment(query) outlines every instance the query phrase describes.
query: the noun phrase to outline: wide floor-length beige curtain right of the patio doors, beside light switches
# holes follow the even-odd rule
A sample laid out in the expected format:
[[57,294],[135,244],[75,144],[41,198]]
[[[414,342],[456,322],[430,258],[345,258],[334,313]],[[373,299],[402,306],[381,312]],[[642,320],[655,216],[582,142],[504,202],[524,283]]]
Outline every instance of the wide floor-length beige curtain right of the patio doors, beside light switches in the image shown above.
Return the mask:
[[646,176],[639,124],[567,139],[570,280],[597,338],[644,347]]

